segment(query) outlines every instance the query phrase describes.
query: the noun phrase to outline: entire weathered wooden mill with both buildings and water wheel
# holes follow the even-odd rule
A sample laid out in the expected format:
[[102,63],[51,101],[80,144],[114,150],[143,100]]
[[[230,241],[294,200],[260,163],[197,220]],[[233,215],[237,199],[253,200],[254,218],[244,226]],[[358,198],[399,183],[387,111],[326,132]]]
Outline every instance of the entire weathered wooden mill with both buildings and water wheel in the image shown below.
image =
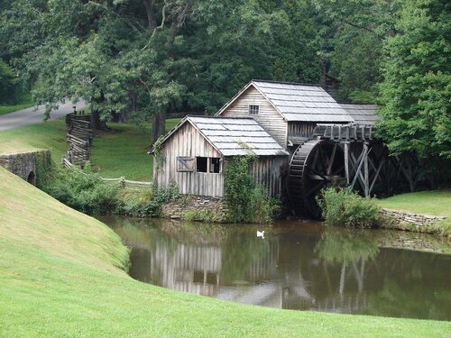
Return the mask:
[[375,105],[339,104],[317,85],[253,80],[216,117],[188,116],[161,142],[154,179],[182,194],[224,196],[227,158],[252,151],[251,172],[299,214],[319,217],[323,187],[390,195],[416,182],[415,159],[373,138]]

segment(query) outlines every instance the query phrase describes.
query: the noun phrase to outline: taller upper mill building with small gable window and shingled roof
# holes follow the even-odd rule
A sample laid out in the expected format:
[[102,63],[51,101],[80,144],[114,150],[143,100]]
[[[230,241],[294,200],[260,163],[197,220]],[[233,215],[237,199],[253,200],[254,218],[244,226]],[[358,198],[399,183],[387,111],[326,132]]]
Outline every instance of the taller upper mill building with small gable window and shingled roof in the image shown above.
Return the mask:
[[354,118],[318,85],[253,80],[216,116],[252,117],[284,149],[311,138],[318,123]]

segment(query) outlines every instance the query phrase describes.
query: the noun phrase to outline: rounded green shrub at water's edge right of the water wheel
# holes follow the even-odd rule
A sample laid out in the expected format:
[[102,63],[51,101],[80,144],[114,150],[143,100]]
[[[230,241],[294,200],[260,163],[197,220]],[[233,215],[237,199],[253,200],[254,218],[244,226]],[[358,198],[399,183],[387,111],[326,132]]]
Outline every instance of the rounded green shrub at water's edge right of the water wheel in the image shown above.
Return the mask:
[[362,197],[350,187],[329,187],[317,197],[326,224],[372,228],[380,224],[381,214],[370,197]]

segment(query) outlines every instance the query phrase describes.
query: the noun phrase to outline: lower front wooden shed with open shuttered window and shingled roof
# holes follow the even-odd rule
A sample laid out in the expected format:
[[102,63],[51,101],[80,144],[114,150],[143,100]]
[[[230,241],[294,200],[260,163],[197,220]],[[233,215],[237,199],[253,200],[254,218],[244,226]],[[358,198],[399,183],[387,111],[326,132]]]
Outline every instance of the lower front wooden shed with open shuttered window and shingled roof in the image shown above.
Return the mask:
[[249,151],[258,156],[251,169],[255,179],[271,196],[281,194],[289,153],[250,117],[185,117],[163,138],[153,178],[159,187],[175,182],[181,194],[222,197],[227,158]]

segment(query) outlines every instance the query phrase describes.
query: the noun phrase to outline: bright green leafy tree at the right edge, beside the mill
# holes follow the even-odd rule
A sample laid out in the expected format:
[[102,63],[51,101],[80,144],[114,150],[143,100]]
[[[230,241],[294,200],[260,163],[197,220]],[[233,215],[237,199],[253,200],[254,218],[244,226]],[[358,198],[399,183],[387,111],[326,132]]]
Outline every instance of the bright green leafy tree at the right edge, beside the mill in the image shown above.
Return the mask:
[[401,4],[398,33],[385,41],[379,134],[392,152],[451,159],[451,5]]

